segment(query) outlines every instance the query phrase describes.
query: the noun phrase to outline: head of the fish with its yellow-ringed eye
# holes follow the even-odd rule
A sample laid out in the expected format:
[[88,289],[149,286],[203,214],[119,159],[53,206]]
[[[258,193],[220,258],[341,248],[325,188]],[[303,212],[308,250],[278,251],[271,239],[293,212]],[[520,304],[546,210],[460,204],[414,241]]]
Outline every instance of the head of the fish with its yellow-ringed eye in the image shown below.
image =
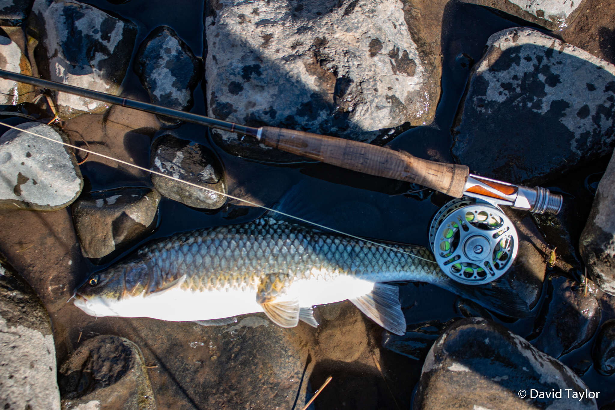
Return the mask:
[[121,306],[143,291],[146,271],[143,262],[132,261],[95,272],[77,288],[73,303],[91,316],[124,316]]

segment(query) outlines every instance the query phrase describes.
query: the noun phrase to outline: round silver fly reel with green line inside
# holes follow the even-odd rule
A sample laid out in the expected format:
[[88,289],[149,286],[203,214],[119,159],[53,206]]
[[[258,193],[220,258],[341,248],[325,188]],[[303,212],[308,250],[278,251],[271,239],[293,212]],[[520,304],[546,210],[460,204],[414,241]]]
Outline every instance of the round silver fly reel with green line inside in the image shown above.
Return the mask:
[[429,242],[444,273],[466,285],[504,275],[518,250],[517,230],[501,208],[470,197],[440,208],[429,226]]

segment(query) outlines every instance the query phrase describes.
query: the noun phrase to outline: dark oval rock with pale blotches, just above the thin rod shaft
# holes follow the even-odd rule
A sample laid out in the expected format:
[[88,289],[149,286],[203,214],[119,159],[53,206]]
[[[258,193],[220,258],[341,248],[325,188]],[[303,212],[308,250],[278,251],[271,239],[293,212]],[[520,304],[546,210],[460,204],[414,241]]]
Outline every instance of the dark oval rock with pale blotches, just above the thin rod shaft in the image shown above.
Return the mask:
[[[172,28],[155,28],[141,43],[135,57],[135,73],[148,90],[153,104],[190,111],[192,92],[202,76],[201,63]],[[164,124],[181,121],[158,116]]]

